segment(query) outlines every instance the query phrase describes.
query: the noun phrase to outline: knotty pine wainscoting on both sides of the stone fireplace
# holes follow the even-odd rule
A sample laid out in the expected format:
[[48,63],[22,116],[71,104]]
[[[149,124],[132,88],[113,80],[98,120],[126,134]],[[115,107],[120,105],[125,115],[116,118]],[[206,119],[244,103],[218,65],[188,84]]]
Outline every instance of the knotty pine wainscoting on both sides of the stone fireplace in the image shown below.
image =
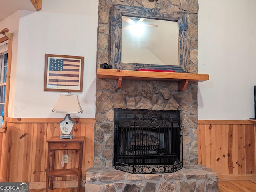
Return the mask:
[[[60,118],[7,118],[0,132],[0,180],[30,182],[30,188],[44,188],[47,139],[60,135]],[[94,119],[74,119],[74,136],[85,136],[83,172],[93,166]],[[219,173],[219,180],[256,179],[256,127],[252,121],[198,120],[198,164]],[[76,151],[57,153],[70,157],[64,168],[78,166]],[[58,157],[58,158],[57,158]],[[58,184],[59,181],[59,184]],[[75,181],[75,182],[73,182]],[[57,187],[75,186],[76,177],[56,178]]]

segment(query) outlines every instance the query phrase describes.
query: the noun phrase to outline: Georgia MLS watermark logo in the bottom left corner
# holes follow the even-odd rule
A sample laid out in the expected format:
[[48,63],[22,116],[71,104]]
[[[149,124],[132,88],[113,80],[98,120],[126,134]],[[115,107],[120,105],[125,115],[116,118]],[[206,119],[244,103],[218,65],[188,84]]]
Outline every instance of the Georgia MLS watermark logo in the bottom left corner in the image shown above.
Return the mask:
[[28,182],[0,183],[0,192],[28,192]]

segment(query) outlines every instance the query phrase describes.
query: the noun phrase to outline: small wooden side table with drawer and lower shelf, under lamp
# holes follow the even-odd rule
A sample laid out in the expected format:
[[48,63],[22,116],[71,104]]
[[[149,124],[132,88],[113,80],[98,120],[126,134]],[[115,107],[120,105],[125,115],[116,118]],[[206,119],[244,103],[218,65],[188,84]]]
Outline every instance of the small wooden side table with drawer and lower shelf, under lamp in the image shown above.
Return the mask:
[[[82,160],[84,136],[74,137],[73,139],[60,139],[59,136],[51,137],[46,141],[48,143],[48,158],[46,168],[46,192],[53,188],[53,178],[59,176],[78,176],[77,192],[80,192],[82,183]],[[78,150],[78,168],[54,169],[55,152],[57,150]],[[50,165],[50,153],[52,151],[52,163]]]

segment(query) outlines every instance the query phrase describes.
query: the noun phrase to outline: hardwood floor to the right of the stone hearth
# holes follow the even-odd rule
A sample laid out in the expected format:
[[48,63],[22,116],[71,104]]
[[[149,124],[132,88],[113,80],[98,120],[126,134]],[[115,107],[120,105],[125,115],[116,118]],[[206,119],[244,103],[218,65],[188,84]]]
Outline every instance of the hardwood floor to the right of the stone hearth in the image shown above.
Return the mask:
[[220,192],[256,192],[256,180],[219,181]]

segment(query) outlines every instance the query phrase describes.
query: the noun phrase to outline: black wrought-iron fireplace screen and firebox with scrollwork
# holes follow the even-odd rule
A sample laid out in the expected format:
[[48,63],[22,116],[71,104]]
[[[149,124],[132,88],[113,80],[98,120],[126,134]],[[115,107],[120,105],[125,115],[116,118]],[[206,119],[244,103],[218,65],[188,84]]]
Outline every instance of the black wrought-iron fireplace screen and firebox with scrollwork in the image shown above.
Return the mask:
[[114,167],[133,174],[183,167],[180,111],[115,109]]

